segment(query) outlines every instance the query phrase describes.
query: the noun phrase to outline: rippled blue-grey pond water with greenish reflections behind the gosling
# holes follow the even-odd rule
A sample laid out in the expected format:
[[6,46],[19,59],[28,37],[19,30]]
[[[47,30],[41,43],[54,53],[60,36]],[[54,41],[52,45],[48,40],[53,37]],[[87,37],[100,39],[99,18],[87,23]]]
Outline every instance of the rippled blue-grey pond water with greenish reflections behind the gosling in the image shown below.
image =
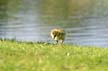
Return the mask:
[[50,30],[63,28],[64,43],[108,46],[107,0],[1,0],[0,38],[55,43]]

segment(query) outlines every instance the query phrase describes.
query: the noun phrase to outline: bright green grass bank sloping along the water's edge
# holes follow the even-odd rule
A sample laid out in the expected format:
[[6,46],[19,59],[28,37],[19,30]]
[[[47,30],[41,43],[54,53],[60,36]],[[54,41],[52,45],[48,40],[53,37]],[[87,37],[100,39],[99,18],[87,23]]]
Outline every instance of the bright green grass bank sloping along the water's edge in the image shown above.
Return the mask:
[[108,71],[108,48],[0,41],[0,71]]

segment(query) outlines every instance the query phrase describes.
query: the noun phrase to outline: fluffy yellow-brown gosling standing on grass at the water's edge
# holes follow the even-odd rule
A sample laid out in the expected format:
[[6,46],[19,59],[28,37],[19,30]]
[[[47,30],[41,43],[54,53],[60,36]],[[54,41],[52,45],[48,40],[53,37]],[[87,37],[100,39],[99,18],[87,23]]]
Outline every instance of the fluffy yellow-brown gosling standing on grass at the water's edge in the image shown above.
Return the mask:
[[65,31],[63,29],[53,29],[51,30],[51,33],[50,33],[51,37],[58,43],[59,40],[61,41],[61,43],[64,42],[65,40]]

